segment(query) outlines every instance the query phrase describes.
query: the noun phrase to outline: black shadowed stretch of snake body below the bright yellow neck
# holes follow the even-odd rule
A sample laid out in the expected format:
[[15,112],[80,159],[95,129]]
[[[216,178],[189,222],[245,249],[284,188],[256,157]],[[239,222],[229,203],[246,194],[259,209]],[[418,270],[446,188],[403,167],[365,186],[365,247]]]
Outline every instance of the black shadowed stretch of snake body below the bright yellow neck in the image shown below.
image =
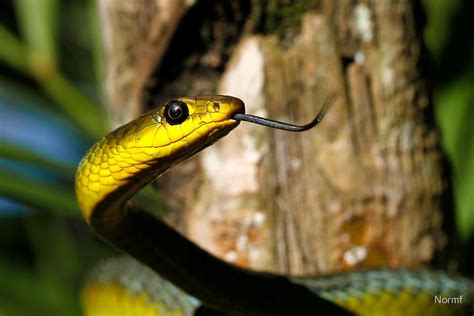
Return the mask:
[[238,315],[309,310],[347,315],[285,277],[241,269],[212,256],[147,212],[133,208],[119,212],[122,216],[106,225],[100,219],[91,221],[96,232],[207,306]]

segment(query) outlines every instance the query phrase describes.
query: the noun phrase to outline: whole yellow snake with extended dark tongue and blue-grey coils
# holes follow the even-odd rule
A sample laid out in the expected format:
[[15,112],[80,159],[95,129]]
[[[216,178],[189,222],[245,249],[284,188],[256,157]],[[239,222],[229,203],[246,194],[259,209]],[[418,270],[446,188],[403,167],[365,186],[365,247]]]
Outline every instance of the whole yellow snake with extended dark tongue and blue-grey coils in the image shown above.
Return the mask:
[[142,276],[126,272],[124,267],[134,265],[132,259],[103,265],[83,295],[86,313],[192,315],[200,306],[224,315],[474,312],[474,281],[468,278],[403,268],[315,277],[257,272],[209,254],[131,201],[144,186],[222,139],[242,121],[306,131],[323,120],[334,99],[328,97],[310,123],[293,125],[246,114],[244,102],[232,96],[180,97],[94,144],[76,173],[79,207],[98,236],[140,262],[135,266],[141,268],[132,270],[142,271]]

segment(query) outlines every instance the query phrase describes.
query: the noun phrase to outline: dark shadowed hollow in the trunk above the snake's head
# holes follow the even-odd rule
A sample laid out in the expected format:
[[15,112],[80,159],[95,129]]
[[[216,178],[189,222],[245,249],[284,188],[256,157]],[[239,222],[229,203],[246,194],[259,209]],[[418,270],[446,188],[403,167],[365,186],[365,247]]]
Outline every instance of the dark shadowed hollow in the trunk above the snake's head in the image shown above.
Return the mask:
[[[192,84],[210,81],[214,93],[220,74],[235,47],[248,14],[250,0],[202,0],[184,15],[161,63],[150,76],[147,106],[170,97],[194,95]],[[198,91],[199,93],[199,91]]]

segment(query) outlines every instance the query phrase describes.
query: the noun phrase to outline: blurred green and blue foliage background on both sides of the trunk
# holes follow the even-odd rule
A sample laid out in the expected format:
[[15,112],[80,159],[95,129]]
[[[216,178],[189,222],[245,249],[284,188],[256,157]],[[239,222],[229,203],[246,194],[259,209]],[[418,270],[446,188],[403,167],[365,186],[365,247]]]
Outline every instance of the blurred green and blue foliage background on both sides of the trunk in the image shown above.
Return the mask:
[[[456,223],[474,237],[473,2],[422,1]],[[470,26],[469,26],[470,25]],[[0,314],[79,315],[87,271],[115,252],[83,222],[75,168],[109,129],[94,0],[0,2]]]

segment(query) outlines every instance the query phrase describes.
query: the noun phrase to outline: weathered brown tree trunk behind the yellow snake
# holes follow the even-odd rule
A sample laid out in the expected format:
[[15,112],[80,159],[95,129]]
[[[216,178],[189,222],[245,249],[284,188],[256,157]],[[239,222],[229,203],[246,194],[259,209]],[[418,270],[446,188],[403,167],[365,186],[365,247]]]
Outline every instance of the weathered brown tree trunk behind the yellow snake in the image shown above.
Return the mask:
[[[116,11],[122,15],[115,19],[124,18],[123,10],[111,10],[122,2],[99,2],[102,16]],[[143,8],[168,2],[141,1]],[[107,60],[115,117],[175,96],[220,93],[242,98],[248,113],[303,123],[332,93],[338,98],[315,130],[289,134],[242,123],[162,177],[169,222],[225,260],[285,274],[417,266],[437,258],[446,244],[447,185],[422,68],[418,6],[173,3],[182,19],[166,20],[170,25],[151,22],[160,10],[135,13],[140,23],[127,28],[103,19],[116,39],[144,34],[123,35],[129,44],[117,46],[104,33],[107,55],[125,61],[118,67]],[[143,45],[147,34],[161,35]],[[127,56],[134,46],[146,60],[129,68],[147,70],[126,71],[122,84],[114,84],[112,69],[121,76],[135,60]],[[110,97],[124,94],[119,103]]]

